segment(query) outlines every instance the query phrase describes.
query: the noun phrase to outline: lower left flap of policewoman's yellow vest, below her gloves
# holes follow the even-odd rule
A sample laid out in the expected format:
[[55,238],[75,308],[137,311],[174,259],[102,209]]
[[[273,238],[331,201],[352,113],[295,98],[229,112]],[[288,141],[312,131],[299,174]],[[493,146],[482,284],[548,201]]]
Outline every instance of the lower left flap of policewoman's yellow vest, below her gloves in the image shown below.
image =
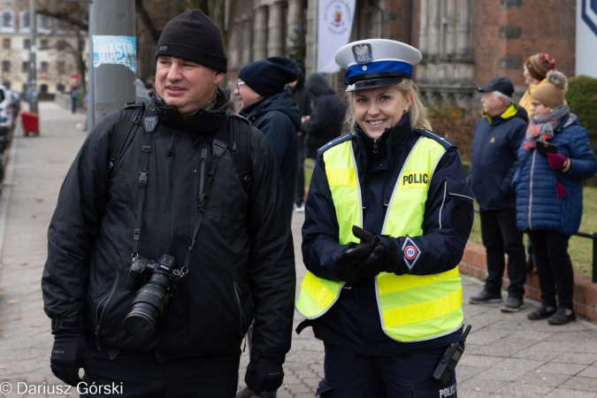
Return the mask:
[[333,280],[319,279],[311,272],[307,272],[301,283],[299,302],[296,303],[296,310],[304,318],[318,318],[325,314],[325,311],[332,307],[333,303],[340,297],[340,289],[344,283]]

